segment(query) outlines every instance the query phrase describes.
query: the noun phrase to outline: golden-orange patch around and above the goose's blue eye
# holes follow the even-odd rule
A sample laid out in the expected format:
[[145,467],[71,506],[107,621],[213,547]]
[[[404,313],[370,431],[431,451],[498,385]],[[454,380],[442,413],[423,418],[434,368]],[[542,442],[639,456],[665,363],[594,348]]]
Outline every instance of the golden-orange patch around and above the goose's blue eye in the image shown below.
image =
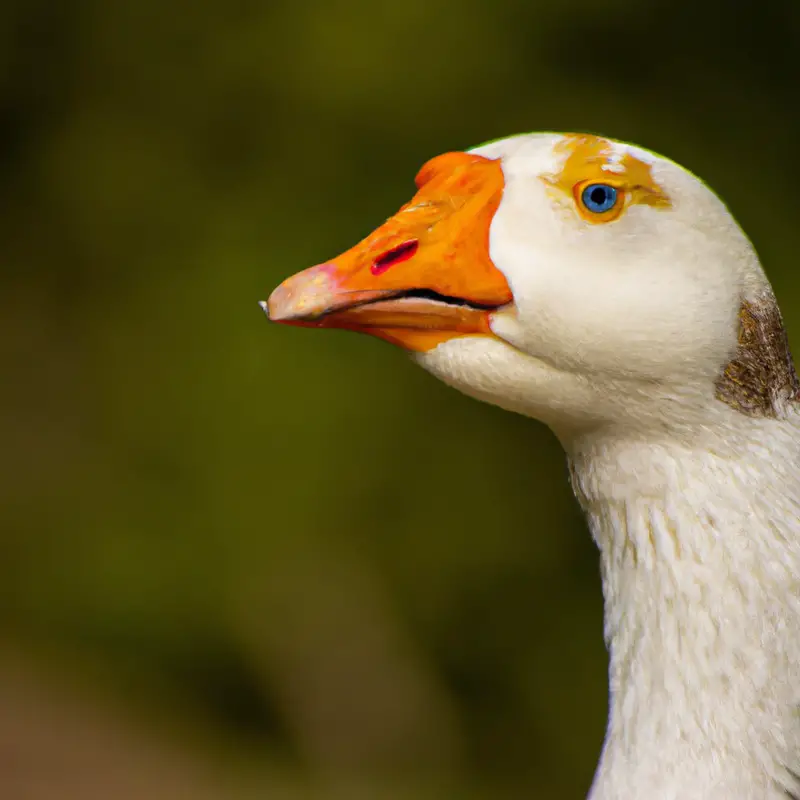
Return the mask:
[[[629,205],[672,207],[650,164],[626,145],[589,134],[567,134],[554,149],[565,154],[563,165],[560,172],[543,175],[542,180],[559,200],[570,198],[586,222],[613,222]],[[611,186],[616,191],[616,203],[602,213],[590,210],[583,200],[583,192],[592,184]]]

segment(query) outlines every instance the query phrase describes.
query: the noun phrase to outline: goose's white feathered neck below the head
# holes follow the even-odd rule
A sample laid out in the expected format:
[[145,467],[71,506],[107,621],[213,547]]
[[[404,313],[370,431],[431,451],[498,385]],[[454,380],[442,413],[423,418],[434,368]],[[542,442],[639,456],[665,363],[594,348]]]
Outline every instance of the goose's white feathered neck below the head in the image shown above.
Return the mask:
[[794,419],[724,416],[682,442],[570,448],[611,655],[592,800],[797,789],[800,436]]

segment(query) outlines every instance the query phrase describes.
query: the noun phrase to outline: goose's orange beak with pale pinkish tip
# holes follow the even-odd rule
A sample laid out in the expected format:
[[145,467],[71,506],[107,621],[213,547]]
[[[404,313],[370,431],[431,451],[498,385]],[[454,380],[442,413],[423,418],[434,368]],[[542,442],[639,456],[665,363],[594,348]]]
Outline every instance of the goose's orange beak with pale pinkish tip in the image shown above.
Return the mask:
[[416,351],[492,335],[491,313],[513,299],[489,258],[503,186],[498,161],[438,156],[397,214],[332,261],[285,280],[261,305],[274,322],[361,331]]

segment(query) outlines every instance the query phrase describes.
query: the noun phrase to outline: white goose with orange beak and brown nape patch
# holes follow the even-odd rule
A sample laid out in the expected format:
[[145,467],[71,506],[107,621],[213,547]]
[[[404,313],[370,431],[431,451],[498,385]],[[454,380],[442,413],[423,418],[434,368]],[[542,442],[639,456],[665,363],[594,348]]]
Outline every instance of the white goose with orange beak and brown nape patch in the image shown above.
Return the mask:
[[416,185],[262,308],[555,433],[604,595],[591,800],[800,798],[800,385],[753,246],[688,170],[602,136],[445,153]]

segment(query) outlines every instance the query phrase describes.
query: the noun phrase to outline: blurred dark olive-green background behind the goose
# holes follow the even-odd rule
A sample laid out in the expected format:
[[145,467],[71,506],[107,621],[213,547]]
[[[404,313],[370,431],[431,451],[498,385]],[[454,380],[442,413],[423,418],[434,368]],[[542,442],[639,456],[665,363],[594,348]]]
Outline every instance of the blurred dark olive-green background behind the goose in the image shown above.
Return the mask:
[[800,4],[5,0],[0,797],[582,797],[606,658],[557,443],[256,305],[440,152],[702,175],[800,331]]

